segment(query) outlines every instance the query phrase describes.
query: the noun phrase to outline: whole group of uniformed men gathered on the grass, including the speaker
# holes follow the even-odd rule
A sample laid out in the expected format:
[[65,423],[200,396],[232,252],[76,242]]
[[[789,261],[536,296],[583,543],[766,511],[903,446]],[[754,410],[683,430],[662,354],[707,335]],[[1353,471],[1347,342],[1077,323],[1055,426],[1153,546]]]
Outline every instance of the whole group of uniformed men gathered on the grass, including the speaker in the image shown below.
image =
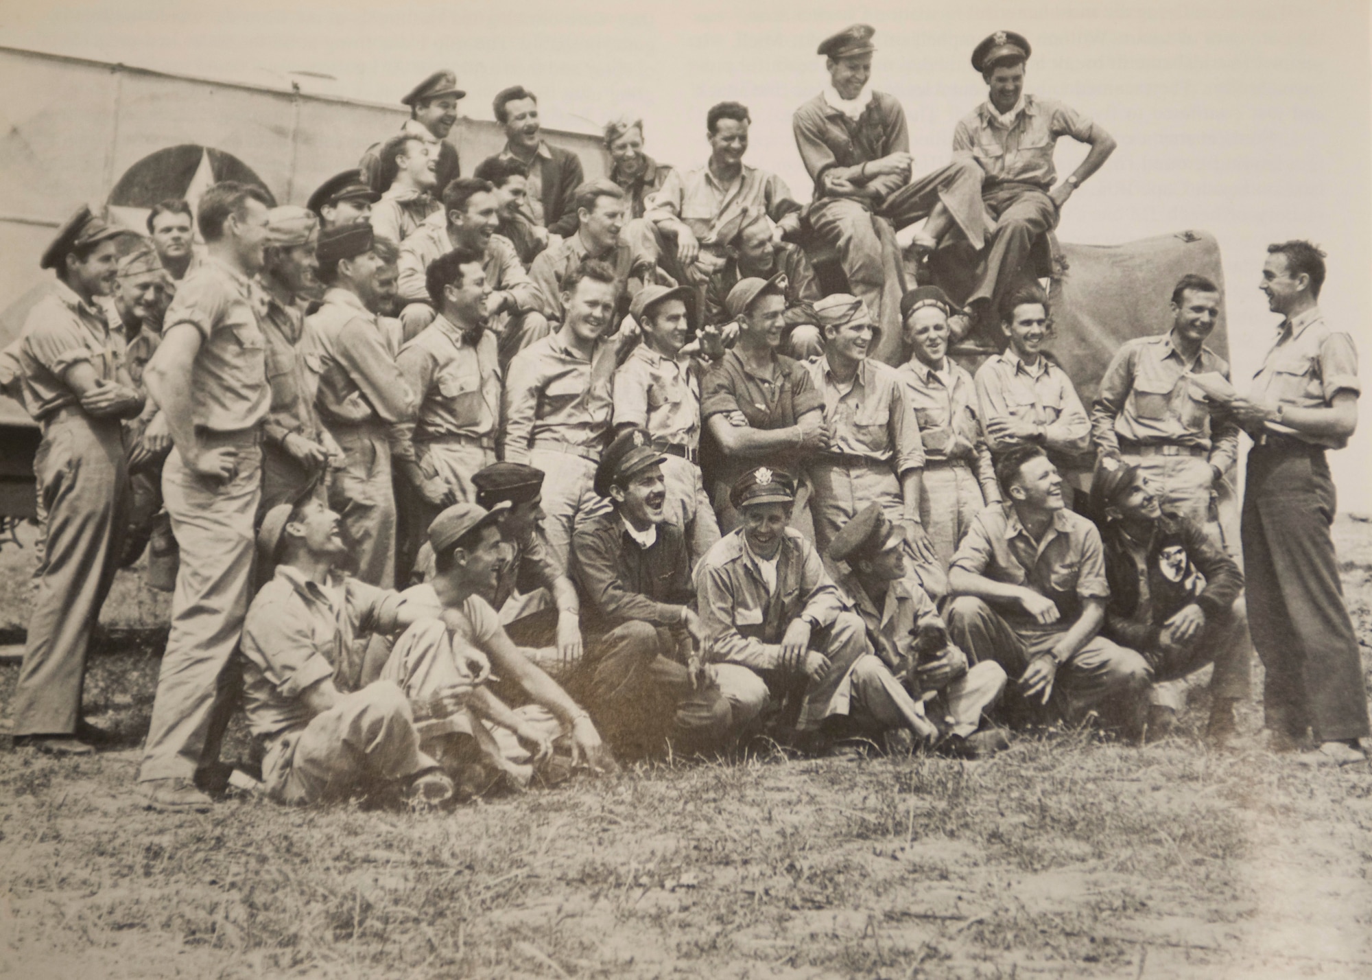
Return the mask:
[[[1250,631],[1279,747],[1313,732],[1310,760],[1361,759],[1324,465],[1357,364],[1316,305],[1321,253],[1269,250],[1286,318],[1250,395],[1205,346],[1218,287],[1187,276],[1088,412],[1026,270],[1114,141],[1026,95],[1029,43],[997,32],[973,55],[988,102],[911,180],[871,38],[819,47],[830,84],[794,118],[809,206],[742,162],[740,103],[709,110],[705,166],[652,161],[622,119],[611,178],[584,181],[508,88],[506,147],[462,177],[439,71],[307,209],[211,187],[193,261],[184,203],[122,250],[82,209],[7,366],[43,427],[15,736],[99,737],[81,679],[132,508],[165,515],[180,563],[140,771],[156,807],[210,806],[239,703],[294,803],[366,784],[428,804],[759,733],[962,758],[1004,725],[1157,734],[1209,663],[1228,741]],[[1055,183],[1059,136],[1091,151]],[[797,240],[849,291],[822,295]],[[959,248],[967,303],[910,288],[907,253]],[[1002,349],[974,376],[949,354],[973,328]],[[1214,513],[1239,428],[1251,616]]]

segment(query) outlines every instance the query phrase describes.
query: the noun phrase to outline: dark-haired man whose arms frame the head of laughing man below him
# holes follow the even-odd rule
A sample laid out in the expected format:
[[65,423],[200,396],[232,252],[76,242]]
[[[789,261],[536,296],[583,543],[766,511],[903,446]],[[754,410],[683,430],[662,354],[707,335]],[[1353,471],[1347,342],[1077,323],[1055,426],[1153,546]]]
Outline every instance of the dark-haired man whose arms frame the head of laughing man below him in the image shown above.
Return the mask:
[[524,272],[509,239],[497,233],[499,206],[495,188],[477,177],[460,177],[443,191],[443,214],[435,213],[401,246],[401,312],[405,339],[429,325],[434,306],[424,277],[429,264],[454,248],[482,254],[488,294],[483,306],[486,325],[498,338],[501,364],[547,334],[547,320],[538,312],[538,287]]

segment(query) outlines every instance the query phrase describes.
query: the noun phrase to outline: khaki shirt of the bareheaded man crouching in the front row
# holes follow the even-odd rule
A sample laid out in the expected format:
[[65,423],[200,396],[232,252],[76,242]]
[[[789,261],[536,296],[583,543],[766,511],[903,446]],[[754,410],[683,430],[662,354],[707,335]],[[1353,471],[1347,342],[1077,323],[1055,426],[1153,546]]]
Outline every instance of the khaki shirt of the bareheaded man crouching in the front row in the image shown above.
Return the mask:
[[1021,633],[1061,633],[1081,616],[1084,600],[1110,598],[1100,531],[1066,509],[1054,512],[1043,539],[1034,542],[1014,506],[988,506],[973,517],[949,568],[1022,585],[1056,604],[1062,618],[1047,626],[1019,609],[1002,609],[1006,622]]

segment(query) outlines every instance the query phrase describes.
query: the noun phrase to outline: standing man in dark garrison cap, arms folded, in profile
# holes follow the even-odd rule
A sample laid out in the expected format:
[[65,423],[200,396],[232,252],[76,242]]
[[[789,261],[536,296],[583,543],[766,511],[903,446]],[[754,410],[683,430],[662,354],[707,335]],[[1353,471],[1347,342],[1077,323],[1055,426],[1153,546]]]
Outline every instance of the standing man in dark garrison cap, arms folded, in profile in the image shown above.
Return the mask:
[[364,224],[320,235],[318,276],[328,288],[306,320],[305,353],[318,364],[320,419],[344,454],[329,505],[355,544],[357,576],[388,589],[395,582],[391,441],[397,425],[414,420],[416,395],[395,362],[397,338],[377,316],[394,288],[377,244]]

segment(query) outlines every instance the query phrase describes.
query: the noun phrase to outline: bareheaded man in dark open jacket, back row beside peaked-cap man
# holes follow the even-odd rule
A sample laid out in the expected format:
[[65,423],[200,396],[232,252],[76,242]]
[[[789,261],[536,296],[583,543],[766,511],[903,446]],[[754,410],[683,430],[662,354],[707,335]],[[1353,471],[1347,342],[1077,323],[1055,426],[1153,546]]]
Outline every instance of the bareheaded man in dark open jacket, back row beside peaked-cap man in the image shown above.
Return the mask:
[[497,92],[491,108],[505,126],[505,148],[498,155],[528,169],[530,218],[553,235],[569,237],[576,231],[576,188],[586,180],[580,158],[543,140],[538,96],[523,85]]

